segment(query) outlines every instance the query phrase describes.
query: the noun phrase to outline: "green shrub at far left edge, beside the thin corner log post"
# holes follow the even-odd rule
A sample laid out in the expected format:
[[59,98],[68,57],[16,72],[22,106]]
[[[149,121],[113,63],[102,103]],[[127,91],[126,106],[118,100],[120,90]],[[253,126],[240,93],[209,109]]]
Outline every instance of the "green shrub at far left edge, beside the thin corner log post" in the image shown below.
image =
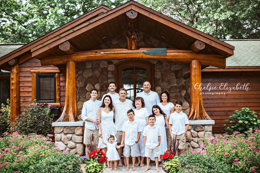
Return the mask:
[[10,100],[6,100],[6,105],[2,103],[0,111],[0,136],[4,132],[10,133]]

